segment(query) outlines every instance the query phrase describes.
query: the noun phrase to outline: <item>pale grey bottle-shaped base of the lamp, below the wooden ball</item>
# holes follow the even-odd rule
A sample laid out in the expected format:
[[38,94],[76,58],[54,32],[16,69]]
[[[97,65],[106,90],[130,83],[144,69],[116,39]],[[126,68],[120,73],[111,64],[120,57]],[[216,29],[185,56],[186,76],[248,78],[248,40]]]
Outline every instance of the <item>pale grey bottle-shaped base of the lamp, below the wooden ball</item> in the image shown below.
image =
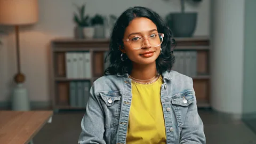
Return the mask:
[[23,84],[19,83],[13,89],[12,110],[28,111],[30,110],[30,103],[28,98],[28,91]]

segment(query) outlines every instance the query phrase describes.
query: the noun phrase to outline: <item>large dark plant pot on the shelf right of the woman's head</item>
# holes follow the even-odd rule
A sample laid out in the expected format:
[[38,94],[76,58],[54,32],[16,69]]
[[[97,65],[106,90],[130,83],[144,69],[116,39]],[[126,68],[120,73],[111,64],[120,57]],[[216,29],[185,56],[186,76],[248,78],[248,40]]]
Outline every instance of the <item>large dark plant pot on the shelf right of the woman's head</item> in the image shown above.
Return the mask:
[[202,0],[179,0],[181,3],[180,13],[169,13],[166,15],[166,21],[173,32],[174,37],[193,36],[197,25],[197,13],[185,12],[185,1],[191,4],[198,4]]

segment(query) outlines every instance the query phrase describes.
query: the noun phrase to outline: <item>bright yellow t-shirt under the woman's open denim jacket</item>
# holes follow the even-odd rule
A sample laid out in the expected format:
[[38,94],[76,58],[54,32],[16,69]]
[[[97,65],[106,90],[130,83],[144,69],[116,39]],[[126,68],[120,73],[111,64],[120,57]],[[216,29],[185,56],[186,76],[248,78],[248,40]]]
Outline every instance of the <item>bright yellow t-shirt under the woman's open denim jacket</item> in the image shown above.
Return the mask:
[[132,81],[132,103],[126,143],[166,143],[161,103],[162,76],[151,84]]

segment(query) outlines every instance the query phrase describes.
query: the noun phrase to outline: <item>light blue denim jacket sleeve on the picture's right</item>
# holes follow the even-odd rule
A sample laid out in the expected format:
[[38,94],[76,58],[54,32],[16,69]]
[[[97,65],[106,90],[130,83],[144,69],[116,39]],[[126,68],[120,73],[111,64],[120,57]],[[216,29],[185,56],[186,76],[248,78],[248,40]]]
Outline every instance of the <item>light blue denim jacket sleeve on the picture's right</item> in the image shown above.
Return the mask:
[[[190,85],[192,86],[191,89],[193,89],[193,93],[196,99],[192,79],[190,79]],[[202,119],[198,114],[196,100],[195,100],[188,107],[186,119],[180,134],[180,144],[199,144],[199,143],[205,144],[206,138],[204,134],[204,125],[203,125]]]

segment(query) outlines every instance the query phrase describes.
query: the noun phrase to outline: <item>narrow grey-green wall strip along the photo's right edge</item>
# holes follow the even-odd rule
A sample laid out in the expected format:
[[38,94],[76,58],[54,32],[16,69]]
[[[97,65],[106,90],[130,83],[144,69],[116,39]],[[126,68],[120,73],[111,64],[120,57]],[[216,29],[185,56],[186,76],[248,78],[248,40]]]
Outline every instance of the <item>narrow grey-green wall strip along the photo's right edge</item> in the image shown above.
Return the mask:
[[244,34],[244,91],[243,113],[244,118],[256,118],[256,1],[245,2],[245,34]]

